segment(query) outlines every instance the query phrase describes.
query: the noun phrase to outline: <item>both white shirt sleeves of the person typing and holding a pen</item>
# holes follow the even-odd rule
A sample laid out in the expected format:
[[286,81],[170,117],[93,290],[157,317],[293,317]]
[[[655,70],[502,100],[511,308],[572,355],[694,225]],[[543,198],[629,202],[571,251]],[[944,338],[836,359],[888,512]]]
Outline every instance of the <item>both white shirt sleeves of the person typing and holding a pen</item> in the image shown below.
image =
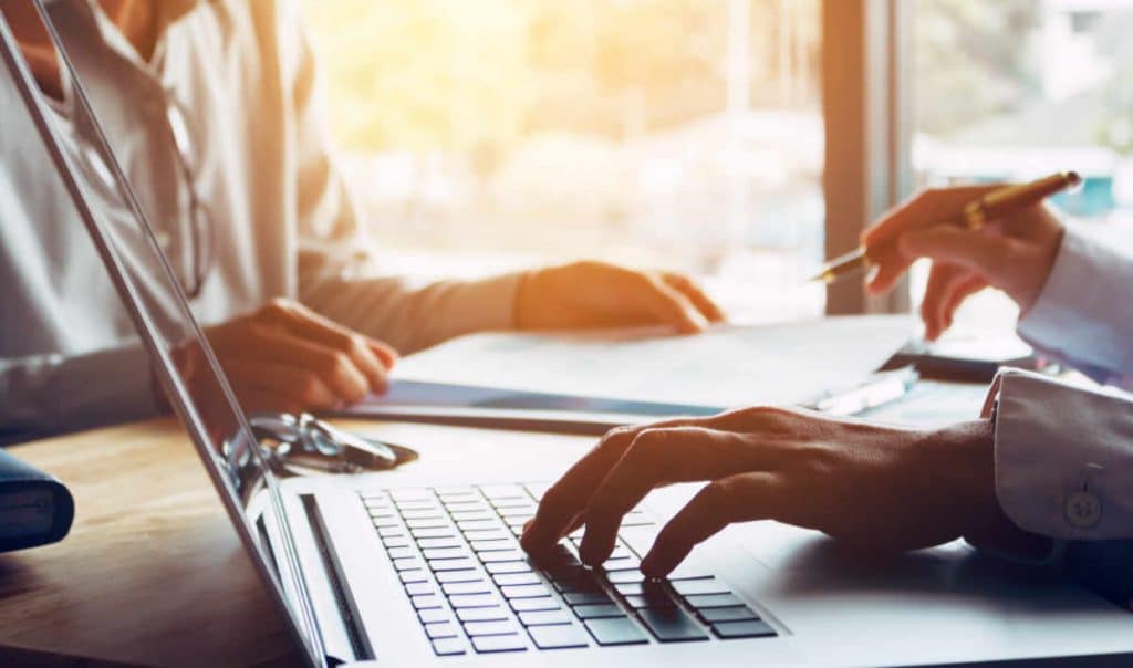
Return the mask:
[[[1020,334],[1096,380],[1133,382],[1133,259],[1067,230]],[[1133,397],[1020,370],[988,394],[996,495],[1032,533],[1063,540],[1133,538]]]

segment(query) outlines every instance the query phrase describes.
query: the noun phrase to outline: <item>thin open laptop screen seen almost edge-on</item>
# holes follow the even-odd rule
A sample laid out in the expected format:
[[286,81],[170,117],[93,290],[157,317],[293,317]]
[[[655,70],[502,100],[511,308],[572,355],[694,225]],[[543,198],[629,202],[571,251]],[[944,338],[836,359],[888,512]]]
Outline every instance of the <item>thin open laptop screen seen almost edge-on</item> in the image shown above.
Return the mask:
[[[206,337],[189,308],[179,258],[169,258],[154,234],[139,194],[125,177],[107,142],[97,109],[86,94],[75,59],[83,44],[85,2],[51,3],[27,12],[37,23],[19,29],[42,31],[60,53],[61,91],[41,92],[19,49],[14,31],[0,15],[0,109],[5,132],[0,143],[17,138],[42,156],[31,156],[41,169],[32,192],[15,197],[43,198],[52,214],[42,224],[84,225],[99,258],[133,319],[138,343],[146,349],[156,378],[195,442],[202,461],[248,554],[270,593],[286,613],[296,639],[315,665],[324,663],[309,599],[290,553],[290,529],[281,512],[276,480],[265,465],[259,445],[216,363]],[[70,12],[69,15],[66,12]],[[15,110],[26,110],[18,113]],[[35,142],[34,138],[41,139]],[[26,146],[16,147],[27,153]],[[0,169],[15,169],[0,165]],[[5,181],[0,175],[0,183]],[[35,206],[27,211],[36,211]],[[190,228],[191,221],[162,220],[161,229]],[[107,314],[108,318],[114,317]],[[284,546],[273,553],[271,543]],[[280,554],[284,553],[284,554]]]

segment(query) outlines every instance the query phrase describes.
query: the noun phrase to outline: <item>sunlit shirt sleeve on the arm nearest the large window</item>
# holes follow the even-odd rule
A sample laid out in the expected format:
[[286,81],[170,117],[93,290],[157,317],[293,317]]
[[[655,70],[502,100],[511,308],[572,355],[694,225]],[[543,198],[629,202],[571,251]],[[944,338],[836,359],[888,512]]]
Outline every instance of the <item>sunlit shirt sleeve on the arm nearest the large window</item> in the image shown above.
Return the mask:
[[333,160],[310,46],[298,22],[288,27],[295,31],[287,42],[295,45],[289,78],[298,134],[299,299],[402,353],[512,328],[519,274],[425,285],[375,275],[357,206]]

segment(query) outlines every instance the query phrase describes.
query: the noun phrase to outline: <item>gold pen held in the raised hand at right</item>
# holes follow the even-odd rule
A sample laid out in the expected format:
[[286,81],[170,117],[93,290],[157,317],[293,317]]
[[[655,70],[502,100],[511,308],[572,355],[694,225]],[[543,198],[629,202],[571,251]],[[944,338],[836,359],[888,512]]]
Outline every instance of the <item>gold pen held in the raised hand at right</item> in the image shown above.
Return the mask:
[[[964,211],[959,217],[940,221],[939,225],[959,225],[969,230],[980,230],[987,221],[1002,219],[1017,211],[1022,211],[1037,202],[1050,197],[1055,192],[1074,188],[1082,182],[1082,177],[1077,172],[1058,172],[1043,177],[1030,183],[1017,186],[1005,186],[993,190],[972,200],[964,206]],[[859,247],[852,252],[836,257],[823,266],[823,269],[811,276],[810,281],[821,281],[833,283],[843,276],[854,273],[858,269],[874,264],[870,252],[877,252],[880,248],[895,242],[895,239],[881,241],[878,247]]]

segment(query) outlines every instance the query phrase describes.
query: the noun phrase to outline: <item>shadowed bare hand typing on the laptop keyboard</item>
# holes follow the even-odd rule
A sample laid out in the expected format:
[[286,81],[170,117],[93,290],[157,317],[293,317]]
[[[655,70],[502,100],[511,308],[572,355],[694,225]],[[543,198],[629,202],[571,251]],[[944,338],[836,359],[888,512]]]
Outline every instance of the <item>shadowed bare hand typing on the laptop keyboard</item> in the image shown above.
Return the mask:
[[874,550],[1013,530],[988,420],[914,430],[757,408],[611,431],[547,489],[521,543],[537,555],[585,526],[579,556],[602,564],[649,490],[701,480],[642,557],[645,575],[668,574],[732,522],[777,520]]

